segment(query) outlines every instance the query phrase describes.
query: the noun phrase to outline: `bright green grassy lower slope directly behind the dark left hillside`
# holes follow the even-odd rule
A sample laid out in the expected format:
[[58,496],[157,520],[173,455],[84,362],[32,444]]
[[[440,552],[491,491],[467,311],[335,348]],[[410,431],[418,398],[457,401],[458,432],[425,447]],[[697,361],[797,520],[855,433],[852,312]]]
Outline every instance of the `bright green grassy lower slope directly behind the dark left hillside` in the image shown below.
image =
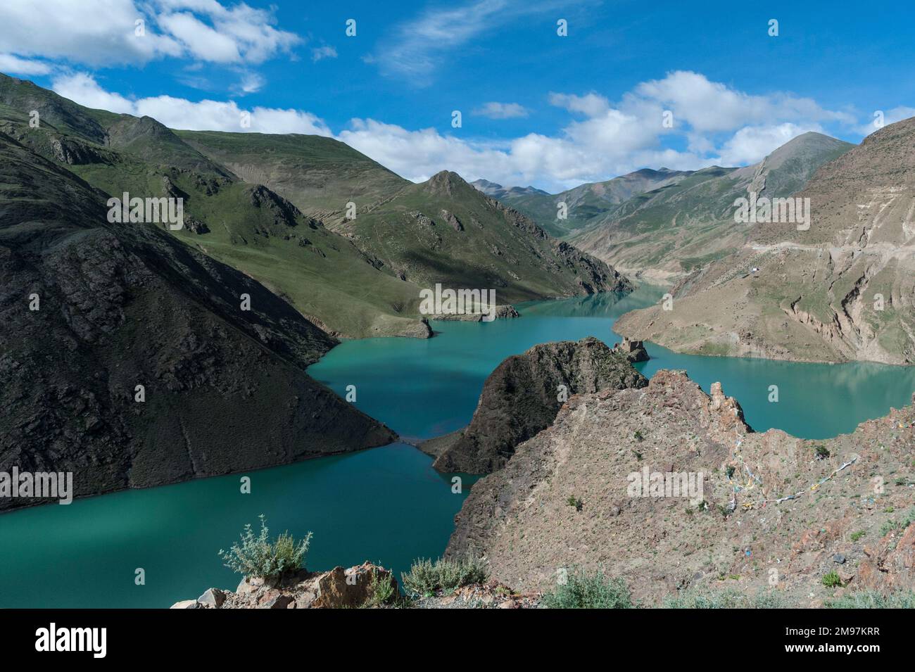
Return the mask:
[[[162,176],[139,162],[72,170],[108,193],[163,193]],[[419,288],[375,269],[349,240],[312,228],[304,216],[296,226],[274,224],[269,211],[253,207],[251,185],[228,182],[208,196],[192,175],[165,172],[188,194],[185,219],[199,219],[210,229],[203,235],[188,227],[175,232],[189,245],[252,276],[335,334],[426,334],[417,316]],[[300,244],[303,238],[310,244]]]

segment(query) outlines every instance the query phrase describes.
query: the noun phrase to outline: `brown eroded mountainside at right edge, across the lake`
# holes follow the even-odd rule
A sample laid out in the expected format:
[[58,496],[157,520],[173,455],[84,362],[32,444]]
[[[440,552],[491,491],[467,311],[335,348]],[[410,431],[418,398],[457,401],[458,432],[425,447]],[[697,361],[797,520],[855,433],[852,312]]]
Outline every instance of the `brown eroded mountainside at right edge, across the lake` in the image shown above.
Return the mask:
[[811,221],[753,226],[619,333],[680,352],[915,362],[915,119],[872,133],[794,195]]

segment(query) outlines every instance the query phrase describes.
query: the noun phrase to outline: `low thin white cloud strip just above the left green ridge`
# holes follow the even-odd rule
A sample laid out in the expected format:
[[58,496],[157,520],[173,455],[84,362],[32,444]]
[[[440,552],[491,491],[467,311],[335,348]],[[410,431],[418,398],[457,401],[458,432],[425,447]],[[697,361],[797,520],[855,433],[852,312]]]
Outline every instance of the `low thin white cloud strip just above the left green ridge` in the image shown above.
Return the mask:
[[[234,101],[188,101],[171,96],[131,100],[104,91],[90,75],[79,73],[54,80],[54,91],[86,107],[150,116],[169,128],[192,131],[251,133],[306,133],[331,135],[326,123],[310,112],[277,108],[241,108]],[[242,112],[250,114],[251,125],[242,127]]]

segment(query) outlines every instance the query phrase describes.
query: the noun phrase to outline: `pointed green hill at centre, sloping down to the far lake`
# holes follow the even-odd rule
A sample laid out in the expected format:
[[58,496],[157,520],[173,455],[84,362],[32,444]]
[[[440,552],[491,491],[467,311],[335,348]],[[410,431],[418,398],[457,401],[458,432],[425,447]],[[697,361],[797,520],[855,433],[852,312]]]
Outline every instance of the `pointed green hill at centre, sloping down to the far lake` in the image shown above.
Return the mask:
[[335,230],[398,277],[426,287],[495,289],[500,304],[630,289],[607,264],[555,240],[447,171],[405,187]]

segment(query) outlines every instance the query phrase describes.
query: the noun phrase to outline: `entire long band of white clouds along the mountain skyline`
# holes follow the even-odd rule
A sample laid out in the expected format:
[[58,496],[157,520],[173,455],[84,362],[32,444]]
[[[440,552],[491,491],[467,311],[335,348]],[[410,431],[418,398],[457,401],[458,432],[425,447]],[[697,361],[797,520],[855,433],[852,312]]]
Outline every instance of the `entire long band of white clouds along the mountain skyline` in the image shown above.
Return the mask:
[[[553,93],[549,100],[554,105],[576,114],[553,134],[528,133],[493,142],[468,136],[468,129],[443,134],[434,128],[411,130],[375,119],[353,119],[336,137],[414,181],[449,169],[468,180],[485,177],[503,185],[533,184],[560,191],[646,166],[687,170],[714,164],[752,164],[796,135],[821,130],[817,119],[838,118],[813,101],[800,104],[797,101],[803,99],[791,99],[793,102],[783,105],[789,97],[775,93],[767,101],[745,106],[743,109],[750,110],[748,119],[736,127],[733,124],[740,117],[732,111],[722,112],[714,123],[700,123],[694,128],[689,120],[702,102],[693,96],[680,96],[675,104],[671,102],[669,85],[681,80],[678,74],[668,75],[666,84],[659,84],[665,80],[655,80],[649,82],[651,86],[639,85],[619,102],[593,92]],[[705,91],[709,96],[705,105],[709,109],[723,99],[737,101],[734,107],[740,107],[745,104],[740,101],[754,98],[697,76],[709,84],[706,86],[694,73],[688,74],[691,76],[684,80],[692,83],[693,91]],[[659,86],[662,91],[653,98]],[[251,113],[250,128],[242,129],[239,120],[245,111],[235,102],[170,96],[134,100],[105,91],[86,74],[61,76],[54,80],[54,90],[90,107],[146,114],[172,128],[332,135],[328,125],[310,112],[255,107],[247,111]],[[481,110],[504,113],[515,104],[488,103]],[[673,128],[662,123],[668,105],[673,108]],[[899,114],[904,112],[899,108]],[[727,130],[713,133],[707,130],[710,125],[726,126]]]

